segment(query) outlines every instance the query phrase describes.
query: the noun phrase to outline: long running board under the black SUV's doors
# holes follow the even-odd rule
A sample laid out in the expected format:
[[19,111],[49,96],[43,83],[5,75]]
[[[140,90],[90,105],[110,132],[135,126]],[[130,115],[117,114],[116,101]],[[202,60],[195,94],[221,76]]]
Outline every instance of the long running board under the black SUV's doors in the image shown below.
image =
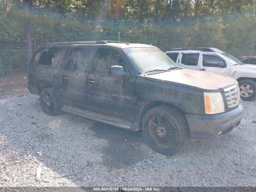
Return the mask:
[[88,119],[96,120],[96,121],[106,123],[106,124],[109,124],[109,125],[124,128],[124,129],[130,129],[130,130],[133,130],[133,131],[140,130],[140,127],[139,127],[138,123],[128,121],[128,120],[123,120],[121,118],[108,116],[108,115],[105,115],[105,114],[100,114],[100,113],[89,111],[89,110],[86,110],[86,109],[81,109],[81,108],[77,108],[77,107],[64,105],[62,107],[62,111],[72,113],[72,114],[75,114],[75,115],[78,115],[78,116],[82,116],[82,117],[85,117],[85,118],[88,118]]

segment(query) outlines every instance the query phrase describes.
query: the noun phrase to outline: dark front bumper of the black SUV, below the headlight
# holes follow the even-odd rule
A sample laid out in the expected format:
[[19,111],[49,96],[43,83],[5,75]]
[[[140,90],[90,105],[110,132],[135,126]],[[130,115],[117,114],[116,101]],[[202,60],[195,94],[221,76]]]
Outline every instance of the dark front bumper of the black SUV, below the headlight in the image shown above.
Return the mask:
[[193,138],[214,138],[230,132],[238,126],[243,117],[243,104],[238,108],[214,115],[186,114],[190,136]]

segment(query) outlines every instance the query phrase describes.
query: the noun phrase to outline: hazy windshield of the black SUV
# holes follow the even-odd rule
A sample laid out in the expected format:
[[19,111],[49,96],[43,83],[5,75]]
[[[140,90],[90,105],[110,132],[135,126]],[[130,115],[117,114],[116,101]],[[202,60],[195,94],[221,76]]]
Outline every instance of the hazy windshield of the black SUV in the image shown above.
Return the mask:
[[178,67],[173,60],[156,47],[125,48],[124,52],[140,73]]

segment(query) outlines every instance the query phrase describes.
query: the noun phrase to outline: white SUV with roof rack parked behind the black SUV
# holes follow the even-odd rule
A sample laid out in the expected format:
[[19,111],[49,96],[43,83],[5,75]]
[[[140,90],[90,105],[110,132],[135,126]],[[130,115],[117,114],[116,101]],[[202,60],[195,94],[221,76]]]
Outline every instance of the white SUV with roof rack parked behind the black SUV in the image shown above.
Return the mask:
[[242,100],[256,98],[256,65],[243,64],[217,48],[174,48],[165,53],[182,68],[231,76],[239,83]]

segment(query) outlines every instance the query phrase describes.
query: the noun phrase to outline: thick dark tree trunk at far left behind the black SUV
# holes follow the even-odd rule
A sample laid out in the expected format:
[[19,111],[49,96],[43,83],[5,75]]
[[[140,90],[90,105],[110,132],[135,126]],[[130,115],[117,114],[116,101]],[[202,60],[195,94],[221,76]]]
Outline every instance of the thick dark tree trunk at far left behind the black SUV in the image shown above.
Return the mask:
[[[24,3],[24,12],[26,16],[29,15],[31,2],[30,0],[23,0]],[[27,17],[28,18],[28,17]],[[26,20],[24,22],[24,36],[26,41],[26,54],[27,54],[27,63],[30,62],[30,58],[32,56],[32,41],[31,41],[31,28],[30,28],[30,20]]]

